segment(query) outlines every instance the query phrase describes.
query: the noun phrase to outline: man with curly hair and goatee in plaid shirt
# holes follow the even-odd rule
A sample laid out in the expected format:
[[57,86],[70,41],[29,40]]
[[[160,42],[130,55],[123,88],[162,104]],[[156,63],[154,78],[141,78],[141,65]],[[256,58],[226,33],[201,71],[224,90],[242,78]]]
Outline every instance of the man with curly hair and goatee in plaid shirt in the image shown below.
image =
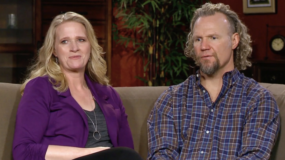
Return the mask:
[[156,101],[148,160],[269,159],[279,109],[270,91],[239,72],[251,66],[251,52],[248,29],[228,5],[195,11],[185,55],[200,69]]

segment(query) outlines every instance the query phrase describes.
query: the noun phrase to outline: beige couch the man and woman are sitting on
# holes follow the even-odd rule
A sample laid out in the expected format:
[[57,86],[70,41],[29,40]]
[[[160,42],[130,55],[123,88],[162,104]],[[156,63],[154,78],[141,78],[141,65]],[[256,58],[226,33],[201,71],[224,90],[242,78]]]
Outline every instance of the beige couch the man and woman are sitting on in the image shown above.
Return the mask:
[[[271,159],[285,160],[285,85],[260,83],[274,95],[281,115],[281,132],[278,137]],[[0,159],[12,159],[12,141],[15,115],[21,95],[20,85],[0,83]],[[154,102],[167,87],[117,87],[133,133],[135,150],[146,159],[147,130],[146,120]]]

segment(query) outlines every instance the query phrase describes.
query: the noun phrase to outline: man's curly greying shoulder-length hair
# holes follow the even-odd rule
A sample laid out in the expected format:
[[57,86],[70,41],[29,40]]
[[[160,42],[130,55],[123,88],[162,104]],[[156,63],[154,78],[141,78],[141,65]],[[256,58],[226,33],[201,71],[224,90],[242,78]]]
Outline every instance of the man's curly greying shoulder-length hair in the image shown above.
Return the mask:
[[196,65],[198,64],[193,46],[194,24],[199,17],[211,16],[217,12],[223,13],[224,15],[227,16],[230,26],[229,37],[231,37],[232,34],[234,33],[238,33],[240,36],[239,44],[237,48],[234,50],[234,65],[238,70],[244,70],[247,68],[247,66],[251,66],[251,62],[248,60],[248,58],[251,56],[252,53],[251,37],[248,34],[247,26],[245,26],[245,24],[241,22],[237,13],[232,11],[229,5],[225,5],[223,3],[217,3],[217,4],[205,3],[204,5],[201,6],[201,8],[197,9],[194,12],[190,24],[190,32],[187,37],[186,47],[184,49],[184,54],[187,57],[193,58],[195,64]]

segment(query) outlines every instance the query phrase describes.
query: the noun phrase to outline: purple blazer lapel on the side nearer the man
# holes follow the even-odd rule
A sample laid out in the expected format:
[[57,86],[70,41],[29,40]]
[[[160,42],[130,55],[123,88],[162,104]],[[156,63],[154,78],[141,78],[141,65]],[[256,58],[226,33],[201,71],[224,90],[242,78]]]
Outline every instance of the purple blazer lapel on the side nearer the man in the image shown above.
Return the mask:
[[101,86],[98,83],[92,82],[87,75],[85,75],[85,80],[92,95],[99,104],[99,107],[105,116],[109,137],[113,145],[117,146],[117,133],[119,130],[117,124],[118,120],[115,116],[114,107],[112,104],[107,102],[109,96],[104,92],[105,86]]

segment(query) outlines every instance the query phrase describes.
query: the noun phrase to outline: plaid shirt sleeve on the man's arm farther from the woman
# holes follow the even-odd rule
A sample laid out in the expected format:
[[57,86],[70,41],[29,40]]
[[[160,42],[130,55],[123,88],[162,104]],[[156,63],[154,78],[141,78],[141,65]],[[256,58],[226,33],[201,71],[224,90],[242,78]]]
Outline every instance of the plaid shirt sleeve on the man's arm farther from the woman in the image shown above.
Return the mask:
[[237,160],[269,159],[280,130],[279,108],[265,90],[251,102]]

